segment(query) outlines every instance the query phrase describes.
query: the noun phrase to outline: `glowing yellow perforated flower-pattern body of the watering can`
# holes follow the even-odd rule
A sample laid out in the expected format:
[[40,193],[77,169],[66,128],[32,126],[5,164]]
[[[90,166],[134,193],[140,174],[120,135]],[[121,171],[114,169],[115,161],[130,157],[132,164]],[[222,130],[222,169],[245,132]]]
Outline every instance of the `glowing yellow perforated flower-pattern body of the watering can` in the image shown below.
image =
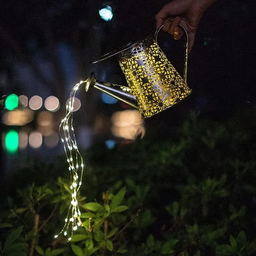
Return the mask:
[[119,64],[142,118],[173,106],[191,92],[152,38],[121,52]]

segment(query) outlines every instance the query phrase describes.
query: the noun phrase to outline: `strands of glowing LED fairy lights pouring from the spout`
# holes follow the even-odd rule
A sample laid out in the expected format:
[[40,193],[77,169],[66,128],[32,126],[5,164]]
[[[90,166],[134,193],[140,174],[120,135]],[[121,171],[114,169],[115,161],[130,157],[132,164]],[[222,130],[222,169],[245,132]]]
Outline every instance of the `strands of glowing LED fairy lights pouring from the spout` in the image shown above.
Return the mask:
[[[68,208],[68,213],[65,219],[65,224],[58,235],[55,235],[54,238],[57,238],[62,232],[64,232],[64,236],[67,236],[68,229],[71,226],[71,234],[68,238],[68,241],[71,240],[73,236],[73,231],[77,229],[77,226],[81,226],[80,215],[81,212],[78,207],[78,202],[76,199],[76,194],[79,191],[82,185],[82,176],[84,171],[83,158],[77,148],[76,138],[73,127],[73,109],[75,102],[75,94],[78,90],[79,86],[86,81],[80,81],[78,84],[74,86],[72,89],[68,103],[66,105],[66,116],[61,120],[59,132],[61,141],[64,144],[65,154],[67,156],[68,162],[68,170],[70,172],[70,180],[71,180],[71,197],[72,201]],[[69,130],[71,128],[71,132]]]

